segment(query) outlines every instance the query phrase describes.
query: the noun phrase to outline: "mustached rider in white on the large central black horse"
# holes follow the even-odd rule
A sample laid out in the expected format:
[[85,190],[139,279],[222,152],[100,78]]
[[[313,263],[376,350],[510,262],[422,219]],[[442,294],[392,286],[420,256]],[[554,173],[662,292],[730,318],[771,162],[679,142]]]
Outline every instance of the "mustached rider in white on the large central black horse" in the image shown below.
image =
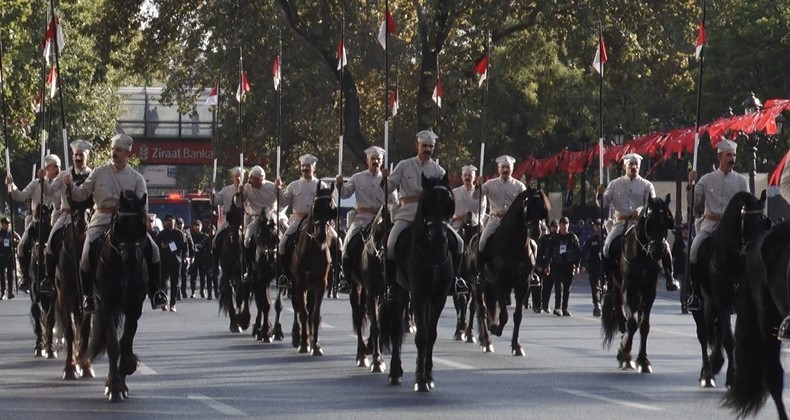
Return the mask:
[[[387,181],[389,191],[398,191],[400,196],[400,206],[395,211],[395,223],[387,238],[387,283],[395,283],[395,273],[397,265],[395,263],[395,244],[398,236],[406,228],[411,226],[417,213],[422,194],[422,175],[427,178],[441,178],[445,175],[445,170],[431,159],[433,149],[436,147],[436,139],[439,137],[431,130],[423,130],[417,133],[417,156],[402,160],[395,166],[392,173],[389,169],[382,169],[384,180]],[[463,288],[464,281],[460,277],[461,257],[464,254],[464,241],[454,229],[448,229],[455,235],[456,250],[453,253],[455,262],[456,288]]]

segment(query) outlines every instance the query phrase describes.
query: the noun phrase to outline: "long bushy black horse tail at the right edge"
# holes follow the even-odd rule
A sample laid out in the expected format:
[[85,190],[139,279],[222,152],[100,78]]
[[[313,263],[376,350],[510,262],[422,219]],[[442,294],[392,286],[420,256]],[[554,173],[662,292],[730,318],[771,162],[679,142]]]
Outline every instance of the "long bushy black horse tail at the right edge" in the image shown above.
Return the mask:
[[[765,336],[761,319],[763,305],[772,305],[766,299],[765,264],[759,251],[746,255],[747,272],[738,290],[735,321],[735,379],[724,397],[724,405],[738,417],[751,417],[762,409],[768,397],[765,387],[765,354],[769,346],[779,345],[771,336]],[[768,341],[771,342],[768,342]]]

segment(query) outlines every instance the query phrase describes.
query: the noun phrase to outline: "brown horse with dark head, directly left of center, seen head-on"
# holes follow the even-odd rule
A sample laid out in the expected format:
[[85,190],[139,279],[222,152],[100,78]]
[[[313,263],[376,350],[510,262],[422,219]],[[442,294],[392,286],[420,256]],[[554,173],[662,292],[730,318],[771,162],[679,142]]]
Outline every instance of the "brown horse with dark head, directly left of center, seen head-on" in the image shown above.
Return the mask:
[[329,224],[337,218],[337,207],[332,201],[334,183],[329,188],[316,186],[316,195],[310,214],[296,237],[296,247],[291,253],[293,273],[294,323],[291,341],[299,353],[321,356],[324,351],[318,340],[321,324],[321,304],[332,265],[332,247],[335,233]]

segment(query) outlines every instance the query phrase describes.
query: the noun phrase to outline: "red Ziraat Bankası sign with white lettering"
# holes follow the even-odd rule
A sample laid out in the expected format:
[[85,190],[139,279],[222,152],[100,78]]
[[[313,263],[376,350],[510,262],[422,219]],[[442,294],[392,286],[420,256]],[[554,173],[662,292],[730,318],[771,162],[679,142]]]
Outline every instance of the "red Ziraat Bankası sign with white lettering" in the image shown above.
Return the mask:
[[132,155],[145,165],[208,165],[214,160],[211,142],[135,141]]

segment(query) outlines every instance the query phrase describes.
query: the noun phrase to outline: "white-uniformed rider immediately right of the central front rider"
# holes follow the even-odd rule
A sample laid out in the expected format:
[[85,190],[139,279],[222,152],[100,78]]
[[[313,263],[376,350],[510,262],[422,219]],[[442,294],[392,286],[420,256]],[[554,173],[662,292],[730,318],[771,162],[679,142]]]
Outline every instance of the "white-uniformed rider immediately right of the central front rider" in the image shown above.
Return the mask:
[[[480,196],[482,190],[483,196],[488,197],[491,201],[491,213],[488,215],[483,233],[480,235],[480,244],[477,248],[477,281],[482,283],[485,278],[485,247],[488,243],[488,238],[496,232],[499,224],[502,223],[502,218],[505,216],[507,209],[513,204],[516,196],[526,191],[527,186],[523,182],[513,178],[513,164],[516,159],[512,156],[502,155],[496,159],[497,170],[499,171],[499,178],[489,179],[481,188],[475,189],[474,197]],[[479,185],[479,182],[478,182]]]

